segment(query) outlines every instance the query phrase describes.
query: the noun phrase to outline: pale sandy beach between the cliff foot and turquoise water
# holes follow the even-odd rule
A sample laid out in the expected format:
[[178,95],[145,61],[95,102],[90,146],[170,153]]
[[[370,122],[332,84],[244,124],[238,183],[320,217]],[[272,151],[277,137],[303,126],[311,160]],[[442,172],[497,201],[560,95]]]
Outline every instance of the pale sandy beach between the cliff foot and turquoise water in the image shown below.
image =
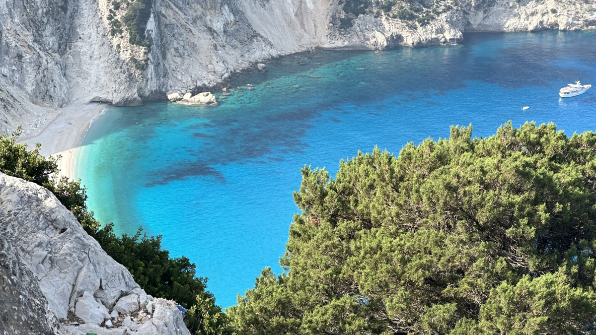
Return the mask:
[[35,135],[19,139],[18,143],[29,148],[41,143],[43,156],[62,156],[58,160],[59,174],[76,179],[75,163],[79,145],[95,117],[109,106],[106,103],[88,103],[81,106],[60,108],[58,115]]

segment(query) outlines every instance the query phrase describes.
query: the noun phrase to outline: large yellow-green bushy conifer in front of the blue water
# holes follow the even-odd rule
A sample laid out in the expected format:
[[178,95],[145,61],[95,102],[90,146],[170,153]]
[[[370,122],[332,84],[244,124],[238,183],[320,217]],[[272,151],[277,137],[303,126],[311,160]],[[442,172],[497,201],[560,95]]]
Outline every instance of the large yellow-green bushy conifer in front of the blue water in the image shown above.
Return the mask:
[[238,334],[578,334],[596,318],[596,134],[489,138],[305,167],[286,272],[228,309]]

